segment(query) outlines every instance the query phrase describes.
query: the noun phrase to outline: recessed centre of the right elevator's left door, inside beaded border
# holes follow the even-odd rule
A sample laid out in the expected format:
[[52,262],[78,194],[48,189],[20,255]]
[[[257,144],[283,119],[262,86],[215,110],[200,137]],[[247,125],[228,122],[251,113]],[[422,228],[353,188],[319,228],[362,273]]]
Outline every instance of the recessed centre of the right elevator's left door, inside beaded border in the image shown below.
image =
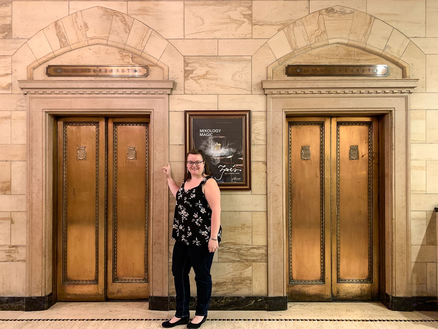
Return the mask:
[[[292,125],[291,200],[291,281],[322,281],[321,253],[321,125]],[[304,145],[301,146],[300,145]],[[310,153],[312,152],[312,154]],[[306,153],[303,157],[303,154]],[[312,156],[311,156],[312,155]],[[306,161],[303,161],[306,160]],[[319,207],[318,207],[319,206]]]

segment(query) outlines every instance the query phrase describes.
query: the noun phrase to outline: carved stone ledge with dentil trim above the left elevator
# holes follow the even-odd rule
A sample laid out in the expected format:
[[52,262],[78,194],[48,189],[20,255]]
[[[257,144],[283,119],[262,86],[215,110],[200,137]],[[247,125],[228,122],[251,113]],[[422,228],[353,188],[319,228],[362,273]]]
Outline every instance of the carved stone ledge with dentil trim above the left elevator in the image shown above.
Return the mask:
[[170,80],[20,80],[25,94],[170,94]]

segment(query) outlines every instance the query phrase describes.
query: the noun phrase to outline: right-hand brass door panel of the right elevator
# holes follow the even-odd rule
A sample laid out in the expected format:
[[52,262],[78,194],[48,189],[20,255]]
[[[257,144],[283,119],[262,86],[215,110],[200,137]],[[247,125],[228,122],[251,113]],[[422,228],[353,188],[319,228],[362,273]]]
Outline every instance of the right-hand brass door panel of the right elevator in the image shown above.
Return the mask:
[[332,127],[333,299],[377,300],[378,122],[332,118]]

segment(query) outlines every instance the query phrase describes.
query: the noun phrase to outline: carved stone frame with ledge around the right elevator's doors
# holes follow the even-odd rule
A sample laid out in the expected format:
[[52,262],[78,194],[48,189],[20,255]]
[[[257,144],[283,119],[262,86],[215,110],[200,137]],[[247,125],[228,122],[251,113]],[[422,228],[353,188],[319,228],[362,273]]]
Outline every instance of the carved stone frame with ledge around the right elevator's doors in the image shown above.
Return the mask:
[[[286,296],[286,116],[382,115],[384,164],[381,209],[385,266],[380,300],[411,296],[410,131],[411,93],[417,79],[303,77],[261,82],[267,95],[268,296]],[[279,234],[283,232],[283,234]]]

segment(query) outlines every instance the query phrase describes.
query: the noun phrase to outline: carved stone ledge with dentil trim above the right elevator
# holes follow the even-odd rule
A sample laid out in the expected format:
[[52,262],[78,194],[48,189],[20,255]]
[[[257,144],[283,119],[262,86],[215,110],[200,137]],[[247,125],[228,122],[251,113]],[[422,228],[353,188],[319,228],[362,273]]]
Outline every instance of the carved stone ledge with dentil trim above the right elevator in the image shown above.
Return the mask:
[[400,94],[413,93],[418,79],[262,81],[265,94]]

